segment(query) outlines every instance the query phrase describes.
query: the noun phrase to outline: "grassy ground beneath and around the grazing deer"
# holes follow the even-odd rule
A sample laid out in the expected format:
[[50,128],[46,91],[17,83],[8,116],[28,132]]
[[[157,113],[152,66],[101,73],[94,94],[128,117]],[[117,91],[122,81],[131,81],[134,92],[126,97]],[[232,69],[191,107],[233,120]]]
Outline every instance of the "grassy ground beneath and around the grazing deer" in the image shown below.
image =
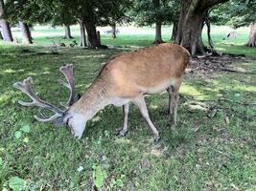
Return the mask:
[[[242,41],[233,46],[234,40],[226,43],[223,35],[214,36],[219,50],[249,56],[231,62],[228,56],[194,60],[180,90],[176,131],[168,127],[167,93],[146,97],[162,138],[158,144],[134,106],[126,138],[115,137],[122,109],[107,106],[77,140],[64,125],[37,122],[33,116],[38,109],[18,105],[17,100],[28,98],[12,87],[30,75],[38,96],[58,104],[68,98],[57,82],[61,65],[74,65],[82,93],[110,55],[132,48],[91,51],[2,44],[0,188],[90,190],[92,184],[104,184],[107,190],[255,190],[256,49],[243,47]],[[111,42],[107,36],[103,39]],[[119,36],[115,42],[145,46],[153,38],[147,34],[127,39]]]

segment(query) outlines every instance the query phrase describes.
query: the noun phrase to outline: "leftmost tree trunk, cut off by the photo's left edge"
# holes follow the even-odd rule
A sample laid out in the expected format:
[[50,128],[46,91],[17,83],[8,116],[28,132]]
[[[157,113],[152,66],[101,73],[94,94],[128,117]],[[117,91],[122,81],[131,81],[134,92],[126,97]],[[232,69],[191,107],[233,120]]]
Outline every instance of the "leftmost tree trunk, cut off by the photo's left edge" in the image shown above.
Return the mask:
[[1,35],[5,41],[12,42],[12,32],[10,23],[3,19],[6,14],[6,9],[4,8],[4,1],[0,0],[0,27],[1,27]]

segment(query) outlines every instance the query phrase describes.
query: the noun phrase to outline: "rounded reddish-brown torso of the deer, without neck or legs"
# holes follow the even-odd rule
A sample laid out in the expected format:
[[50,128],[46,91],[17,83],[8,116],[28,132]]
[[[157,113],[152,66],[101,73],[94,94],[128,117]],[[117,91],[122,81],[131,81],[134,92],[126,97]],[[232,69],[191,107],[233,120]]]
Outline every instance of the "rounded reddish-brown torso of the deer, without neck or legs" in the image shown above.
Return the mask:
[[[98,78],[105,78],[113,96],[132,97],[153,94],[179,79],[189,53],[182,47],[165,43],[110,59]],[[111,88],[110,88],[111,87]]]

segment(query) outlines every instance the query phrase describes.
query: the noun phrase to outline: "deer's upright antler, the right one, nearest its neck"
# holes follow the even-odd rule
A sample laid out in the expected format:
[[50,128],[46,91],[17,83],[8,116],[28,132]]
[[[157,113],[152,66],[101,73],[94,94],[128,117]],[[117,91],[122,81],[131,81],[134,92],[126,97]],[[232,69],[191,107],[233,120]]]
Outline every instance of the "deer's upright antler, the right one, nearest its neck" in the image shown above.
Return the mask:
[[65,66],[61,66],[59,68],[59,71],[65,75],[66,80],[68,82],[68,83],[66,83],[66,82],[62,81],[61,79],[58,80],[59,83],[66,86],[70,90],[70,96],[69,96],[67,105],[71,106],[75,102],[75,97],[76,97],[76,87],[75,87],[75,82],[74,82],[73,65],[67,64]]

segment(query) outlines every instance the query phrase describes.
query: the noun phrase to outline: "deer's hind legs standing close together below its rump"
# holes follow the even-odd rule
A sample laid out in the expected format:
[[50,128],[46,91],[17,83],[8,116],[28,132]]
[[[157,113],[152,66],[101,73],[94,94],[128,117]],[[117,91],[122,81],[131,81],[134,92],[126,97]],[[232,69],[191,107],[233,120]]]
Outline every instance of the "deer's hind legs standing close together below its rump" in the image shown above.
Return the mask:
[[181,85],[181,80],[178,80],[175,85],[171,85],[168,87],[167,92],[169,94],[169,109],[168,109],[168,115],[169,115],[169,124],[172,130],[175,130],[176,126],[176,111],[177,111],[177,105],[178,105],[178,90]]

